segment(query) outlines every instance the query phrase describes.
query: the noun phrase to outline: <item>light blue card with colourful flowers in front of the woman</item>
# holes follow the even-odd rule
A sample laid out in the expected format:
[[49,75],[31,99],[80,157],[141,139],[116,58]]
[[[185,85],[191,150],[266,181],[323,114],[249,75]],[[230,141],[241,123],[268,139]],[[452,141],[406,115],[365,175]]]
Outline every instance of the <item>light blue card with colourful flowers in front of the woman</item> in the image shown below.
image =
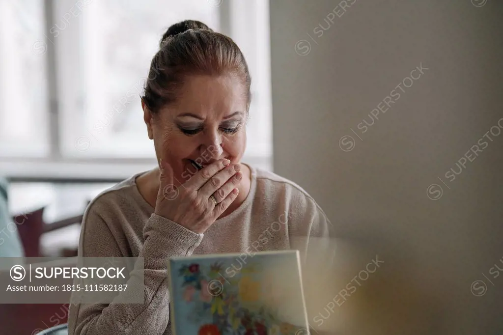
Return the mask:
[[176,335],[307,335],[297,250],[168,261]]

